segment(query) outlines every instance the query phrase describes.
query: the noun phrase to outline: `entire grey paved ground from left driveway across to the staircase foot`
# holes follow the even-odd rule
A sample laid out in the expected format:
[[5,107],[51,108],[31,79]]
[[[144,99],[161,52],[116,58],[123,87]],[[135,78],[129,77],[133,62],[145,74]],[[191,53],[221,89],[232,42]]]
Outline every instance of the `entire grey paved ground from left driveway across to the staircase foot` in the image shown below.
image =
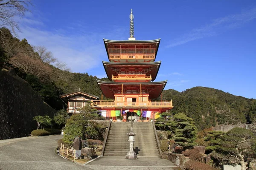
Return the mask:
[[75,164],[55,153],[61,135],[0,140],[0,170],[178,170],[160,158],[100,157],[87,165]]

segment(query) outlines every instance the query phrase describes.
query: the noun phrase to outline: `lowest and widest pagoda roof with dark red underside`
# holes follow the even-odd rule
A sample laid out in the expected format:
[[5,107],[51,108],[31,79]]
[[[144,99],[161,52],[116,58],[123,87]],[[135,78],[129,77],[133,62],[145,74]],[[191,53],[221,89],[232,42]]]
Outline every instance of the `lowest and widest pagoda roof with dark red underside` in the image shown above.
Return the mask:
[[[105,97],[114,99],[115,98],[115,93],[111,91],[113,88],[118,88],[118,86],[137,86],[140,87],[140,85],[148,88],[154,87],[154,91],[149,92],[149,98],[154,99],[160,96],[162,93],[167,80],[161,81],[161,82],[105,82],[102,80],[96,79],[99,88],[101,89],[102,93],[104,94]],[[104,88],[105,87],[105,88]]]

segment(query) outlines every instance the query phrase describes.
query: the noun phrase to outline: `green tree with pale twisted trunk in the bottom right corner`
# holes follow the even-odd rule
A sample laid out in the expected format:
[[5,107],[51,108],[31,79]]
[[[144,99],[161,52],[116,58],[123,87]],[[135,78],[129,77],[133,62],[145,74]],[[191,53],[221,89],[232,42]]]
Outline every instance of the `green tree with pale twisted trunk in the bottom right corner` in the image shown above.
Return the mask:
[[221,164],[240,164],[246,170],[249,161],[256,159],[256,137],[248,129],[235,127],[219,138],[212,156]]

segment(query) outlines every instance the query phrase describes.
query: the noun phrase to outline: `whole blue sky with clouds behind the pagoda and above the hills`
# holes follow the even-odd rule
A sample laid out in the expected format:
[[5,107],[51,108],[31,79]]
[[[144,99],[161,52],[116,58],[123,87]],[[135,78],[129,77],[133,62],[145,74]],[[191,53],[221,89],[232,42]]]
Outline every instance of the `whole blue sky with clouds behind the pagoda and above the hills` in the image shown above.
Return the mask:
[[20,39],[43,45],[73,72],[106,77],[103,38],[127,40],[133,8],[136,40],[161,38],[156,81],[256,99],[255,0],[33,1],[19,19]]

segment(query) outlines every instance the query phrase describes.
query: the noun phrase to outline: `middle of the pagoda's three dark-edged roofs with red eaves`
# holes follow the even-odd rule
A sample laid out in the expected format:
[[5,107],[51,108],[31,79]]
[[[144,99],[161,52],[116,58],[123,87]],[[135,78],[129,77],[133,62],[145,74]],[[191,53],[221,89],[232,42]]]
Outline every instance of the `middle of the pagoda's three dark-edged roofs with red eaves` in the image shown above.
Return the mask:
[[157,77],[157,73],[159,71],[160,65],[161,65],[161,61],[158,62],[105,62],[102,61],[102,64],[104,66],[104,69],[106,71],[106,74],[108,76],[108,79],[112,80],[112,75],[117,76],[117,74],[111,70],[108,69],[110,67],[128,67],[128,68],[133,68],[133,67],[155,67],[154,70],[148,72],[148,74],[146,74],[146,76],[150,76],[152,77],[152,80],[156,79]]

